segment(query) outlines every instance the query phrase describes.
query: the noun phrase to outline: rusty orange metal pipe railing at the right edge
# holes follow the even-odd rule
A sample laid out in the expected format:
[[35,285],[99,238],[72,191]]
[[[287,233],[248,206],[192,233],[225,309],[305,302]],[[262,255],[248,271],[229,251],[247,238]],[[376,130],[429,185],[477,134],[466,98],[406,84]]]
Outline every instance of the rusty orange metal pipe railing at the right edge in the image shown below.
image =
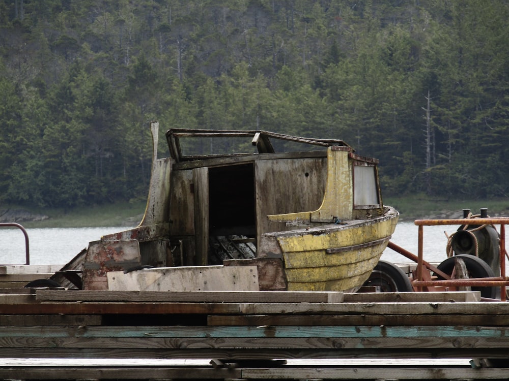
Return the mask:
[[[505,225],[509,224],[509,218],[457,218],[457,219],[416,219],[414,224],[418,227],[417,241],[417,280],[413,283],[417,289],[422,290],[425,286],[457,285],[458,287],[467,286],[500,286],[500,299],[505,301],[506,287],[509,280],[505,276]],[[451,280],[423,280],[423,227],[424,226],[443,226],[443,225],[500,225],[500,276],[493,278],[470,278],[470,279],[451,279]]]

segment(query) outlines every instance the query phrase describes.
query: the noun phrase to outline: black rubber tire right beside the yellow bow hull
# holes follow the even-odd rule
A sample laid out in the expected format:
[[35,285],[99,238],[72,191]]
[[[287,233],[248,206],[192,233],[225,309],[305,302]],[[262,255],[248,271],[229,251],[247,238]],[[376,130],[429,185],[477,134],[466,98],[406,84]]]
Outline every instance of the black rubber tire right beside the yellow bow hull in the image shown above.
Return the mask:
[[364,286],[378,286],[380,292],[411,292],[412,282],[405,272],[391,262],[379,261]]

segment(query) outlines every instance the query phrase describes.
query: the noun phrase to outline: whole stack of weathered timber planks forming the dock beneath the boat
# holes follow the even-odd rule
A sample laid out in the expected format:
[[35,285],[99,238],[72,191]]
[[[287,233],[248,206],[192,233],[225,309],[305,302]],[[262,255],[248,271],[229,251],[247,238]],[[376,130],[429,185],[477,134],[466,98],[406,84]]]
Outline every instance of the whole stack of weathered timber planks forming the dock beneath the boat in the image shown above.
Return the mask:
[[506,378],[509,303],[479,300],[5,289],[0,378]]

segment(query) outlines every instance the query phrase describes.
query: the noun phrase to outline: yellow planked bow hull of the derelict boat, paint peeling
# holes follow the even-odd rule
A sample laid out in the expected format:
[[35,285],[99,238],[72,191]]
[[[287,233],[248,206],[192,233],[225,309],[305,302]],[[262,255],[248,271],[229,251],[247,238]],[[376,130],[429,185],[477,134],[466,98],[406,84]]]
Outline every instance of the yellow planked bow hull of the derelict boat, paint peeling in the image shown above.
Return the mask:
[[355,292],[380,260],[398,216],[389,207],[383,216],[346,225],[271,233],[277,245],[269,256],[282,258],[289,291]]

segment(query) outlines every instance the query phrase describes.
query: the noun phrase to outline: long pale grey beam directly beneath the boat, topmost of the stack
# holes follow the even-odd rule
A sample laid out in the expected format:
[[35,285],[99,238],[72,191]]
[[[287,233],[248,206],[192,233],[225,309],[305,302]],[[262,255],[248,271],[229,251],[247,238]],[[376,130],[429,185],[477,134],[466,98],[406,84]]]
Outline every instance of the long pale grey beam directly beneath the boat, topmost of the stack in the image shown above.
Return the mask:
[[315,291],[87,291],[37,290],[38,301],[341,303],[342,292]]

